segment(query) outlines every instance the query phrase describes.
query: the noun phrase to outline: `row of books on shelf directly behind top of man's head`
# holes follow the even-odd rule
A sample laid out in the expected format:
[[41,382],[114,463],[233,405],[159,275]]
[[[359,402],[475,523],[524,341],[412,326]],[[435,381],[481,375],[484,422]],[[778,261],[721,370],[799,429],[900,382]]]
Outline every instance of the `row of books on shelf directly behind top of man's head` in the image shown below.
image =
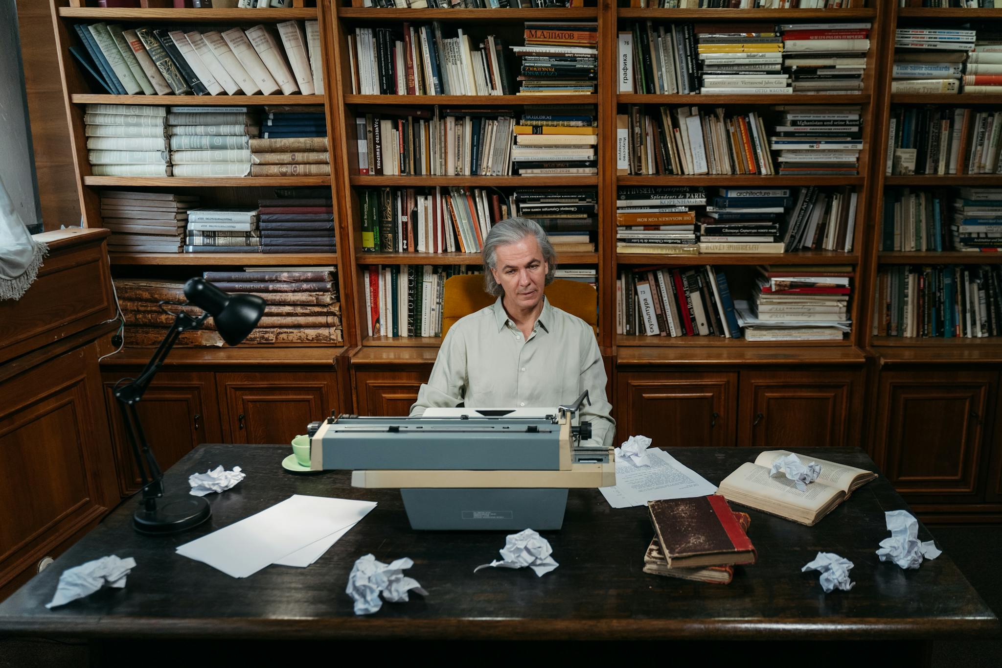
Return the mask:
[[592,189],[364,188],[359,191],[362,249],[480,252],[491,226],[520,215],[536,220],[557,252],[593,252],[598,200]]

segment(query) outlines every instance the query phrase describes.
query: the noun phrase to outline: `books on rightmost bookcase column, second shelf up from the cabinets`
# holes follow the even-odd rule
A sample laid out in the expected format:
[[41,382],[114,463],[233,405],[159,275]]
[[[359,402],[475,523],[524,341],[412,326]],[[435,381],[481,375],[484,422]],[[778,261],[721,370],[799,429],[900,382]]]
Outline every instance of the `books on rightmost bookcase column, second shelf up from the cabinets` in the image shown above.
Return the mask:
[[1002,248],[1002,189],[889,189],[881,250],[997,252]]

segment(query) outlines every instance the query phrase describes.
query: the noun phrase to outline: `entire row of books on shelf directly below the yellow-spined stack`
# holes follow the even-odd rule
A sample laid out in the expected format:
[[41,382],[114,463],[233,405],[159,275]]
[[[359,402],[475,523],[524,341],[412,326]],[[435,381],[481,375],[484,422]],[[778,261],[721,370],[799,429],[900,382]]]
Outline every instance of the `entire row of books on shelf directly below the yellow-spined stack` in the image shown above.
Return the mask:
[[[630,105],[617,124],[620,174],[855,175],[863,149],[860,107],[774,107],[773,134],[758,111]],[[774,165],[775,160],[779,169]]]

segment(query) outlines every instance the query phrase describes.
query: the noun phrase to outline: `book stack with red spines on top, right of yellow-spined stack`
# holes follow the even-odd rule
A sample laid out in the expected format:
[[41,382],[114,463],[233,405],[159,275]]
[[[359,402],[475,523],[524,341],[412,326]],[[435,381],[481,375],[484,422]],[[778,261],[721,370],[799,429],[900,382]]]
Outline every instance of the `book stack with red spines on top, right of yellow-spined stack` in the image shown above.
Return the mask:
[[783,30],[783,65],[795,93],[855,93],[863,90],[868,22],[793,23]]

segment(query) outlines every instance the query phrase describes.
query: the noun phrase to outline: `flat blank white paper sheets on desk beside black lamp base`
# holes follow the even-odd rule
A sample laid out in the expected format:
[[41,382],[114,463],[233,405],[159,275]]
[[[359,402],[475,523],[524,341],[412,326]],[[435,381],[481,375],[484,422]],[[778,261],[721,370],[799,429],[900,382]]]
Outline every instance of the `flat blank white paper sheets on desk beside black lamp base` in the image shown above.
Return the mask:
[[177,554],[234,578],[245,578],[357,524],[375,507],[372,501],[295,494],[257,515],[181,545]]

